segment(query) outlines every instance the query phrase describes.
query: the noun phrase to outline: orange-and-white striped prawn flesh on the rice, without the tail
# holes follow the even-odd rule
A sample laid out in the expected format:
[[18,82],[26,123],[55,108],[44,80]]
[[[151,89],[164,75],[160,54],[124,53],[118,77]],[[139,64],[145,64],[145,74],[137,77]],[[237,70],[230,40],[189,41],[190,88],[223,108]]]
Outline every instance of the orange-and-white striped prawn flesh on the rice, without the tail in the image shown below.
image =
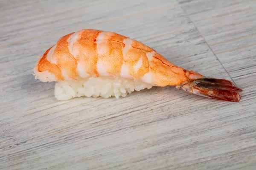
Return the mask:
[[109,31],[83,29],[61,37],[35,67],[41,81],[114,76],[157,86],[180,85],[186,70],[141,42]]

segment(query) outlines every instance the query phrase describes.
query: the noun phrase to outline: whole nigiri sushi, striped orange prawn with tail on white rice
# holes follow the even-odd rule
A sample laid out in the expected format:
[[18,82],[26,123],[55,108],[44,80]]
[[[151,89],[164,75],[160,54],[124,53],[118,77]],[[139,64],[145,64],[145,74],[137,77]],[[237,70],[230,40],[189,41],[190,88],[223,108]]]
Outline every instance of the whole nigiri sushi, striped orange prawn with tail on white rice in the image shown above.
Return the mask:
[[36,79],[55,81],[58,100],[125,97],[153,86],[176,86],[198,96],[239,102],[241,89],[178,67],[154,49],[110,31],[82,29],[61,37],[38,60]]

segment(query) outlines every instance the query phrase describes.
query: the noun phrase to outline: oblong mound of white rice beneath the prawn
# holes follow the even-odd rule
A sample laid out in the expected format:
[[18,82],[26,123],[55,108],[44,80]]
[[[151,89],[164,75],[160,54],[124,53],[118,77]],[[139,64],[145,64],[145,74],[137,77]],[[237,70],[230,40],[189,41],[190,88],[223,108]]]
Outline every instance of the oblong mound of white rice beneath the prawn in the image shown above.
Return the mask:
[[152,88],[151,84],[134,81],[132,79],[115,78],[111,76],[105,77],[88,77],[76,80],[65,80],[55,84],[54,94],[58,100],[68,100],[73,97],[99,97],[116,98],[125,97],[134,90],[140,91],[145,88]]

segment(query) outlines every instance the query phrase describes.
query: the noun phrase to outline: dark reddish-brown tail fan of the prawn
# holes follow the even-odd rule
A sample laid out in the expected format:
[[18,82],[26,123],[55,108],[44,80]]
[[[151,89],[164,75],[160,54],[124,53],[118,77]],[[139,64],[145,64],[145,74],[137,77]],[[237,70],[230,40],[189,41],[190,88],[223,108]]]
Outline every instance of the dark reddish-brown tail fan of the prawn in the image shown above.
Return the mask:
[[238,92],[242,91],[228,80],[210,78],[184,82],[181,88],[191,94],[230,102],[239,102],[241,96]]

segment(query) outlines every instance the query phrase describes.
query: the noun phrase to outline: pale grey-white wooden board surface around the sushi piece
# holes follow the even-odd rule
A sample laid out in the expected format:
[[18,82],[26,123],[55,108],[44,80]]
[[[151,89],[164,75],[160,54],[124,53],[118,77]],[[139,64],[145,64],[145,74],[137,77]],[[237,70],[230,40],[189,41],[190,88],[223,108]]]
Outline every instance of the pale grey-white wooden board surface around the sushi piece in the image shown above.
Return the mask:
[[[241,101],[165,87],[59,102],[36,56],[83,28],[229,79]],[[255,89],[255,0],[0,0],[1,170],[255,170]]]

